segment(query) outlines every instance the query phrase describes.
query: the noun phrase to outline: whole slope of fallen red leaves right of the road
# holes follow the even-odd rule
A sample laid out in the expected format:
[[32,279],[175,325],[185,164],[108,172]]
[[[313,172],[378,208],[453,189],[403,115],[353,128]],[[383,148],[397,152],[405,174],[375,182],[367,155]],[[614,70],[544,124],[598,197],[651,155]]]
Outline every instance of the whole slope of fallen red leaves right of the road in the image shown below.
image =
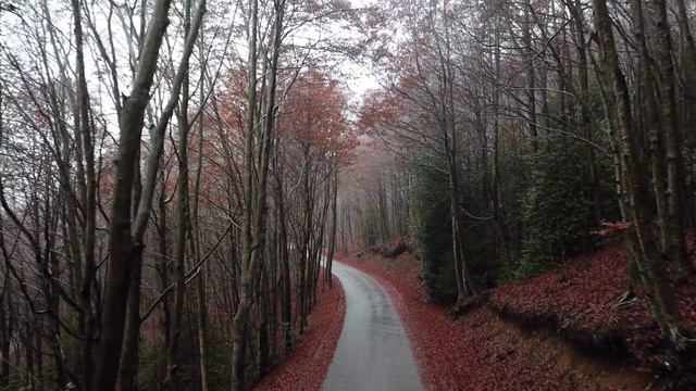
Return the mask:
[[[614,307],[626,290],[620,242],[486,292],[461,316],[424,301],[418,262],[408,253],[339,261],[373,275],[391,295],[432,390],[644,390],[661,384],[656,377],[664,375],[666,366],[647,304],[638,300]],[[696,328],[696,279],[678,292]]]

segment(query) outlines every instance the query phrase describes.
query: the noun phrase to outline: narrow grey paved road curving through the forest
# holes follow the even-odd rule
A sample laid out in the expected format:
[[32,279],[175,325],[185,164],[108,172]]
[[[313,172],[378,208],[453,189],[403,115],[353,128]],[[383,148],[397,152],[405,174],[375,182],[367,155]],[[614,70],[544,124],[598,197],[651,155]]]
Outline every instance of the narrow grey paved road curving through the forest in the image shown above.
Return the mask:
[[334,262],[346,294],[346,319],[324,391],[420,391],[409,339],[387,293],[365,275]]

